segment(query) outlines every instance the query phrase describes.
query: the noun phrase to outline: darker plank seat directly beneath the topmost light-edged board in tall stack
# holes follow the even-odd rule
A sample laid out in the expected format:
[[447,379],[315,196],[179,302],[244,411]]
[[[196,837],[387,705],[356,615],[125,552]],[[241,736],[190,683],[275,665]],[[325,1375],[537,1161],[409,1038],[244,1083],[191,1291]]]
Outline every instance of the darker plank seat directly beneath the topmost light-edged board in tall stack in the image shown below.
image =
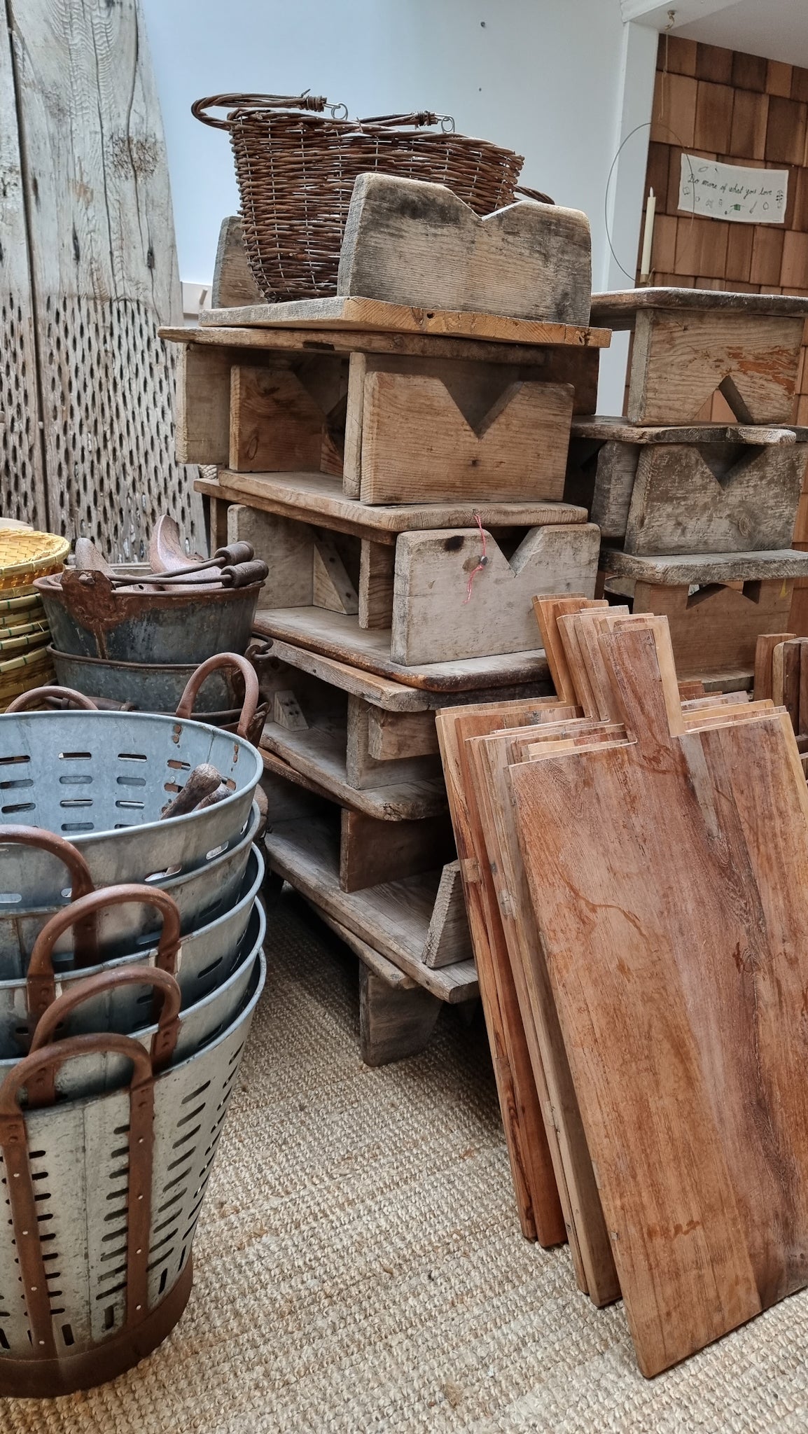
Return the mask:
[[[169,343],[195,344],[201,348],[230,348],[231,363],[258,363],[260,356],[273,363],[280,353],[317,353],[353,360],[363,353],[389,358],[423,358],[429,364],[451,363],[524,367],[522,377],[537,383],[571,383],[576,413],[593,413],[597,403],[598,353],[577,344],[535,347],[525,344],[484,343],[478,338],[439,338],[421,334],[357,333],[311,328],[161,328]],[[346,435],[347,443],[347,435]],[[359,478],[356,479],[359,482]],[[359,488],[354,496],[357,496]]]

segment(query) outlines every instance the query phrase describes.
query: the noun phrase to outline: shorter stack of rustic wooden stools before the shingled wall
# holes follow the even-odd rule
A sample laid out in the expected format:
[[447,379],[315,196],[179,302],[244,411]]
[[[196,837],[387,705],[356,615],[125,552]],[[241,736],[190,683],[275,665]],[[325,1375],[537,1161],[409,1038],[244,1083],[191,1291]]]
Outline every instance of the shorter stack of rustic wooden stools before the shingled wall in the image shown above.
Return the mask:
[[[789,625],[808,429],[791,423],[807,298],[631,290],[593,321],[633,331],[627,416],[573,424],[567,496],[603,535],[606,592],[664,614],[680,677],[749,684]],[[700,423],[719,391],[736,423]]]

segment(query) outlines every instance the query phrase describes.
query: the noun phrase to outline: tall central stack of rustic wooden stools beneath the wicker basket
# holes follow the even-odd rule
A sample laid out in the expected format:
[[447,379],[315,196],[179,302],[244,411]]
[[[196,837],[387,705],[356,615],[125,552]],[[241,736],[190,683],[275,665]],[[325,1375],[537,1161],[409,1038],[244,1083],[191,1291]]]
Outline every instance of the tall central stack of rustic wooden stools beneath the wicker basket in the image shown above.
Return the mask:
[[479,994],[435,710],[551,691],[531,599],[594,594],[600,535],[563,493],[609,334],[583,215],[482,224],[439,185],[365,178],[336,298],[245,304],[227,261],[217,308],[166,337],[179,452],[218,469],[211,543],[270,568],[268,863],[360,956],[380,1063]]

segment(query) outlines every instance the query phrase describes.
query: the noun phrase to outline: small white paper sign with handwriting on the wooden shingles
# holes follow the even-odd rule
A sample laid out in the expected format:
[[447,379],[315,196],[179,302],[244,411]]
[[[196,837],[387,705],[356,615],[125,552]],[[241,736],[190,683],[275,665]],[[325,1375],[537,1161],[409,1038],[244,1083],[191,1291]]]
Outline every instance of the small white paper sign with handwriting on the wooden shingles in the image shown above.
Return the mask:
[[682,155],[679,208],[687,214],[741,224],[782,224],[786,195],[788,169],[748,169]]

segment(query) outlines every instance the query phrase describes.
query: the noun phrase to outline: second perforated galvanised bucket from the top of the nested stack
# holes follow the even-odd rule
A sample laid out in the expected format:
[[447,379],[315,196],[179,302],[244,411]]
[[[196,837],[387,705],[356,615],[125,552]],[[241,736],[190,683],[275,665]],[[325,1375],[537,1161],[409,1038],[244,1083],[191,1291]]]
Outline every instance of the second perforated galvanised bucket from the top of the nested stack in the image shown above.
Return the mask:
[[[1,769],[0,769],[1,770]],[[155,875],[146,879],[149,886],[168,892],[179,908],[182,932],[205,925],[221,916],[238,899],[244,872],[250,859],[250,847],[258,832],[261,813],[255,803],[250,809],[245,829],[228,842],[218,856],[211,856],[202,866],[179,876]],[[3,829],[0,827],[0,842]],[[73,843],[70,843],[73,845]],[[30,909],[23,905],[22,886],[30,863],[30,847],[0,847],[0,869],[6,889],[0,889],[0,981],[22,977],[33,944],[46,921],[70,901],[70,876],[65,863],[49,852],[40,852],[39,860],[46,869],[46,883],[59,891],[59,901]],[[89,876],[89,873],[88,873]],[[88,885],[89,889],[89,885]],[[142,936],[159,926],[159,915],[152,906],[108,906],[98,916],[98,951],[103,959],[125,955]],[[70,932],[59,938],[55,948],[55,965],[72,968],[70,954],[73,939]]]

